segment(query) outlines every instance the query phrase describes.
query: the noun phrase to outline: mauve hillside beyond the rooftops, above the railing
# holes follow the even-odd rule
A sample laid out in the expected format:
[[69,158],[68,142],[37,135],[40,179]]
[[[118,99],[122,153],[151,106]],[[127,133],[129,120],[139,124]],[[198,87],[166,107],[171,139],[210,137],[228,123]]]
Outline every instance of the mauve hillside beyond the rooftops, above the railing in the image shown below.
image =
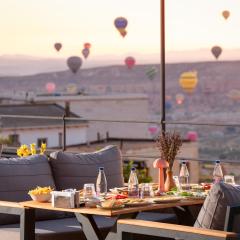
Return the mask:
[[[146,93],[150,97],[151,111],[159,113],[160,74],[158,72],[154,80],[149,80],[146,76],[149,66],[153,65],[136,65],[131,70],[125,66],[96,67],[81,69],[76,75],[70,71],[61,71],[31,76],[0,77],[0,92],[13,94],[19,91],[46,92],[47,82],[54,82],[57,91],[61,92],[66,91],[69,83],[75,83],[79,89],[89,94]],[[160,68],[159,64],[154,66]],[[199,78],[198,86],[191,95],[184,93],[178,83],[180,74],[190,70],[196,70]],[[239,72],[240,61],[167,64],[166,94],[171,96],[171,109],[177,110],[175,114],[183,114],[181,107],[175,103],[175,95],[184,93],[184,107],[188,106],[188,111],[193,113],[191,117],[199,118],[201,114],[208,113],[211,118],[211,113],[238,111],[238,102],[229,99],[227,93],[232,89],[240,89]],[[189,104],[190,102],[192,104]],[[172,116],[174,118],[175,115]],[[237,117],[236,114],[234,116]]]

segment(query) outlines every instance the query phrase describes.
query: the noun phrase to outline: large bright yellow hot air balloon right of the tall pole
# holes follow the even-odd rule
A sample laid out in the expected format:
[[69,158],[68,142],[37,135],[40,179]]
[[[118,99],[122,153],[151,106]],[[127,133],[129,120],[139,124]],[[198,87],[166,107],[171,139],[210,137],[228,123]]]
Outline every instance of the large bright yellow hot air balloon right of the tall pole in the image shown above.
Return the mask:
[[198,83],[197,72],[183,72],[179,78],[182,89],[188,93],[194,91]]

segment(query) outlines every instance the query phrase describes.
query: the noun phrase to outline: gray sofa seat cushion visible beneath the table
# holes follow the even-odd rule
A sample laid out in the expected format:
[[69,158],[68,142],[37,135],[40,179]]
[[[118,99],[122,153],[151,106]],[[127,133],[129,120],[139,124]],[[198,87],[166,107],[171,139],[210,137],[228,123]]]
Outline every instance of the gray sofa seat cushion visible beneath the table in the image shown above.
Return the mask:
[[[97,226],[105,236],[116,219],[95,216]],[[0,227],[0,239],[20,240],[18,224]],[[77,219],[65,218],[49,221],[38,221],[35,227],[35,240],[86,240]]]

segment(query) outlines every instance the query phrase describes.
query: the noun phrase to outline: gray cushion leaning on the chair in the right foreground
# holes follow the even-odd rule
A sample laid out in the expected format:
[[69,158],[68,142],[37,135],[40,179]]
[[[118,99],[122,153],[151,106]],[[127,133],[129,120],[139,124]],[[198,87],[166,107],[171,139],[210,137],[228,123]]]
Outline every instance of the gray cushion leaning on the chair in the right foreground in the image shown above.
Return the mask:
[[[240,187],[226,183],[215,184],[200,210],[195,227],[223,230],[227,206],[239,205]],[[240,232],[240,225],[234,229]]]

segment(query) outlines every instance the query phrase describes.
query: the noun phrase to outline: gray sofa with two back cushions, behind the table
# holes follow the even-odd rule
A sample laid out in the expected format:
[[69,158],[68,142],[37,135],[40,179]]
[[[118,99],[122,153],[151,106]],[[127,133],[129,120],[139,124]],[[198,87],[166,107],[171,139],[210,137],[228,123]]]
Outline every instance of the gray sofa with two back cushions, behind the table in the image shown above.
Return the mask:
[[[95,182],[98,167],[105,168],[108,187],[123,185],[121,153],[116,146],[108,146],[93,153],[53,152],[26,158],[0,159],[0,201],[30,200],[27,192],[36,186],[51,186],[56,190],[82,189],[86,182]],[[1,209],[0,209],[1,210]],[[4,212],[4,211],[3,211]],[[95,216],[103,233],[113,226],[114,219]],[[172,214],[142,213],[138,219],[174,222]],[[37,210],[36,240],[81,240],[85,236],[73,215],[64,212]],[[19,216],[0,214],[0,240],[19,240]]]

